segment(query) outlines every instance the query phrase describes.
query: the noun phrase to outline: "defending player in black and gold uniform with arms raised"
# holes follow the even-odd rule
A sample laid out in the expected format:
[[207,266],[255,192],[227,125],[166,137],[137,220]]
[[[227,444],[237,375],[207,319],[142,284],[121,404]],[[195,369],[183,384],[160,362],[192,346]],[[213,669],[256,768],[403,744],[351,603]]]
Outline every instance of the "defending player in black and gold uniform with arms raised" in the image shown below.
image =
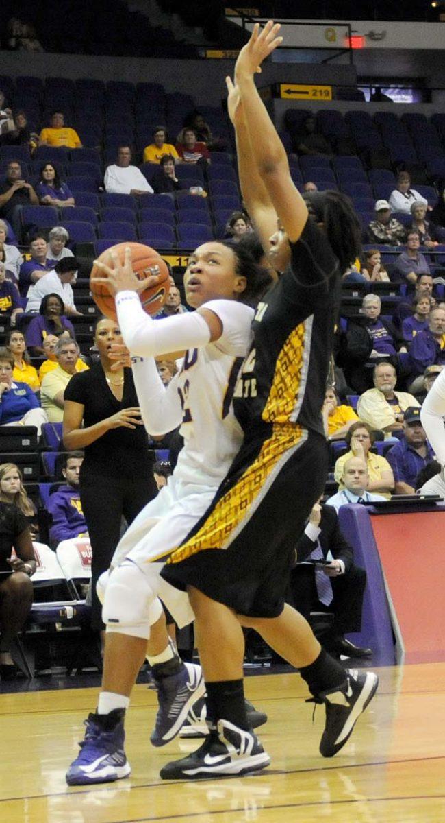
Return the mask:
[[[210,735],[193,755],[164,766],[165,779],[263,769],[269,758],[245,718],[243,635],[248,625],[300,669],[326,707],[320,751],[333,756],[377,688],[345,670],[285,605],[293,541],[323,491],[327,449],[321,409],[340,275],[356,258],[360,226],[350,202],[328,192],[308,208],[255,88],[256,68],[281,42],[259,26],[227,81],[241,188],[264,249],[282,277],[259,304],[254,342],[234,396],[245,439],[212,506],[167,561],[163,576],[187,588],[208,693]],[[278,231],[277,229],[278,222]],[[271,237],[272,233],[273,236]]]

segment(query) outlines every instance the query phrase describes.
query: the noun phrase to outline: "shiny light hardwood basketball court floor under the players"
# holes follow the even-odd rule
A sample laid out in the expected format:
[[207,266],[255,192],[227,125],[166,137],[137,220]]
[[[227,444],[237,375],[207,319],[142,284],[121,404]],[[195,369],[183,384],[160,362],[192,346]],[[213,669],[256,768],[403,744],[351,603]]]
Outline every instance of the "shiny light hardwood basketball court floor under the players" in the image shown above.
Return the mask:
[[4,823],[443,823],[445,663],[378,668],[380,686],[351,740],[319,756],[324,709],[305,704],[295,674],[249,677],[268,712],[260,729],[272,765],[241,779],[164,782],[159,769],[200,741],[149,743],[156,695],[136,686],[126,721],[129,779],[67,788],[64,774],[97,689],[0,695],[0,821]]

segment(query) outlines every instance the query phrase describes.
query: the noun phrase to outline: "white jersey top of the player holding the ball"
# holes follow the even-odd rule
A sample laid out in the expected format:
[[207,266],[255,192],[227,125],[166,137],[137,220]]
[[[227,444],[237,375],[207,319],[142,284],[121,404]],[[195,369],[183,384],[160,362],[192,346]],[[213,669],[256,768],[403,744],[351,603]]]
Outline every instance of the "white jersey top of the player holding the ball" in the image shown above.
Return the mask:
[[218,486],[241,446],[243,433],[232,409],[242,362],[250,349],[254,309],[235,300],[210,300],[223,334],[216,342],[186,351],[176,384],[184,438],[175,477],[184,483]]

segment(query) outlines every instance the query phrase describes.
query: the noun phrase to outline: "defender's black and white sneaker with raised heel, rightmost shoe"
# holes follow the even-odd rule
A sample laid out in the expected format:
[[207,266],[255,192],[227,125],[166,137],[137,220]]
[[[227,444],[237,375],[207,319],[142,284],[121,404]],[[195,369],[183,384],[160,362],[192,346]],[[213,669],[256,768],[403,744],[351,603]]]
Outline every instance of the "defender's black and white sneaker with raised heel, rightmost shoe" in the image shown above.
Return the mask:
[[374,672],[360,674],[357,669],[346,669],[346,686],[323,692],[315,700],[326,707],[326,724],[319,747],[323,757],[333,757],[345,745],[377,686],[378,677]]

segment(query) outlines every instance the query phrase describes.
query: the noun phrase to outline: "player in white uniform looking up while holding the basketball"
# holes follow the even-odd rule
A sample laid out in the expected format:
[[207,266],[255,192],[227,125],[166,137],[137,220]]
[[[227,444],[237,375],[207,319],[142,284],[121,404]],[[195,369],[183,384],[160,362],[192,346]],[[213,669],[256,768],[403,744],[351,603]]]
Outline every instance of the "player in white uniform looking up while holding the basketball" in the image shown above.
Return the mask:
[[[102,264],[103,267],[103,264]],[[104,586],[107,626],[103,690],[98,711],[89,714],[80,755],[67,783],[103,783],[130,774],[124,751],[124,714],[145,658],[150,626],[160,621],[160,597],[180,627],[194,619],[186,592],[160,578],[167,557],[209,507],[241,445],[241,426],[232,414],[232,393],[251,342],[251,306],[270,284],[270,275],[242,245],[210,242],[190,257],[184,277],[186,300],[197,310],[155,322],[145,314],[131,269],[131,252],[121,267],[112,258],[108,274],[117,316],[131,351],[135,386],[145,427],[163,435],[181,425],[184,448],[167,486],[126,531]],[[181,372],[165,387],[154,355],[186,350]],[[168,666],[170,646],[155,658]],[[177,658],[176,658],[177,660]],[[150,661],[153,662],[153,661]],[[182,667],[158,682],[160,709],[151,736],[155,746],[171,740],[190,706],[204,694],[198,667]],[[177,706],[180,704],[178,711]]]

